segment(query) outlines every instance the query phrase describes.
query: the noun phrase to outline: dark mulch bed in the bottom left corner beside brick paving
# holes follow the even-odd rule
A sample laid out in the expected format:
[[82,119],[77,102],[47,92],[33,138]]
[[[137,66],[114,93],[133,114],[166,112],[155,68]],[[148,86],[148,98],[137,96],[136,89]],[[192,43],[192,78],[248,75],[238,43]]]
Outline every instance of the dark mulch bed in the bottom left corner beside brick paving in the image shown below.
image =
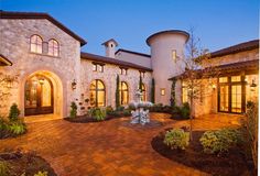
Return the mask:
[[33,152],[1,153],[0,161],[7,163],[9,176],[20,176],[24,173],[25,176],[33,176],[39,172],[47,172],[48,176],[57,176],[51,165]]

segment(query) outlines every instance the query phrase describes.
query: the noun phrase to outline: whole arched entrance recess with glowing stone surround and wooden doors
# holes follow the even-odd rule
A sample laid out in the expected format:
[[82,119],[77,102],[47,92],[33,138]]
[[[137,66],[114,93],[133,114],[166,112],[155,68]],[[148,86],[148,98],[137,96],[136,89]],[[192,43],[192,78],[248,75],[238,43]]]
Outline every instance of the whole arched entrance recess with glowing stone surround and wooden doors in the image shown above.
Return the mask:
[[24,116],[47,113],[61,118],[66,116],[63,82],[59,76],[50,70],[36,70],[25,76],[22,84]]

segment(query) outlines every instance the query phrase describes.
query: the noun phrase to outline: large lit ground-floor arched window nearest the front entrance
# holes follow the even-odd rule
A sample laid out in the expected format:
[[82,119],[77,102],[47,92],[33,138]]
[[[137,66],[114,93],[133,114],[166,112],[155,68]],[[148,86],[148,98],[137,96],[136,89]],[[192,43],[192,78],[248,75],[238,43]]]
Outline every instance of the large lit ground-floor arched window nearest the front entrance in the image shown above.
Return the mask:
[[106,106],[106,88],[101,80],[95,79],[90,84],[90,106],[105,107]]

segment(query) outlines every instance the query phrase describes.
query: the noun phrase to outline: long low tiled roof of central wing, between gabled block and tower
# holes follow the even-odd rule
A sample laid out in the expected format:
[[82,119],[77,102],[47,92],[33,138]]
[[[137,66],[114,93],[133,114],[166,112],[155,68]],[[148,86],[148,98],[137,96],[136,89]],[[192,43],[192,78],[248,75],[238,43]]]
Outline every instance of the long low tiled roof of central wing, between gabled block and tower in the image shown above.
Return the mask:
[[143,67],[143,66],[140,66],[137,64],[119,61],[119,59],[111,58],[111,57],[104,57],[104,56],[99,56],[99,55],[95,55],[95,54],[90,54],[90,53],[82,52],[80,57],[84,59],[89,59],[89,61],[94,61],[94,62],[98,62],[98,63],[107,63],[107,64],[118,65],[118,66],[122,66],[122,67],[130,67],[130,68],[134,68],[134,69],[152,72],[152,69],[148,68],[148,67]]

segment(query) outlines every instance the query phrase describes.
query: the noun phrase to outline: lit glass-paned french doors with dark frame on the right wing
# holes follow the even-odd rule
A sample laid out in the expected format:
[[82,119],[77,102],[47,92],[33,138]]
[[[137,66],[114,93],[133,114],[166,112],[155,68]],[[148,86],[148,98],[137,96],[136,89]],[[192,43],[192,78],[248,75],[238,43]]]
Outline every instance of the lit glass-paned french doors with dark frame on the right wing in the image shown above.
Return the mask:
[[242,113],[246,107],[246,84],[241,76],[218,79],[218,111]]

